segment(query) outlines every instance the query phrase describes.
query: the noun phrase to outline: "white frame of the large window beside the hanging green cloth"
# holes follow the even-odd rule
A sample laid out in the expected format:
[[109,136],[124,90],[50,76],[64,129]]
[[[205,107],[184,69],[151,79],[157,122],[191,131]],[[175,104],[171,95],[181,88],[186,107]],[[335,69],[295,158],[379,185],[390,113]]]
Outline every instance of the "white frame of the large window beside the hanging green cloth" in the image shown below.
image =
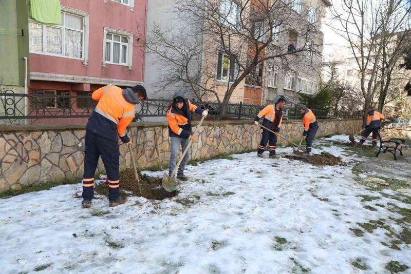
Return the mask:
[[[88,46],[89,46],[89,40],[88,40],[88,33],[89,33],[89,13],[82,11],[82,10],[77,10],[77,9],[73,9],[70,7],[66,7],[66,6],[61,6],[61,13],[63,13],[63,22],[61,25],[53,25],[53,24],[45,24],[42,22],[38,22],[35,21],[32,18],[29,18],[28,20],[28,24],[29,24],[29,37],[30,37],[30,23],[34,23],[34,24],[39,24],[42,25],[42,51],[36,51],[36,50],[31,50],[30,49],[30,38],[29,38],[29,52],[30,53],[35,53],[35,54],[42,54],[42,55],[49,55],[49,56],[54,56],[54,57],[63,57],[63,58],[69,58],[69,59],[74,59],[74,60],[82,60],[84,65],[88,65]],[[74,30],[74,31],[79,31],[78,29],[72,29],[69,27],[65,27],[64,23],[65,23],[65,18],[66,15],[65,14],[70,14],[73,16],[78,16],[78,17],[82,17],[82,27],[83,29],[81,30],[82,32],[82,57],[78,58],[78,57],[70,57],[70,56],[66,56],[65,55],[65,29],[69,29],[69,30]],[[54,27],[54,28],[59,28],[62,29],[62,54],[57,54],[57,53],[50,53],[50,52],[46,52],[46,42],[47,42],[47,35],[46,35],[46,26],[50,26],[50,27]]]

